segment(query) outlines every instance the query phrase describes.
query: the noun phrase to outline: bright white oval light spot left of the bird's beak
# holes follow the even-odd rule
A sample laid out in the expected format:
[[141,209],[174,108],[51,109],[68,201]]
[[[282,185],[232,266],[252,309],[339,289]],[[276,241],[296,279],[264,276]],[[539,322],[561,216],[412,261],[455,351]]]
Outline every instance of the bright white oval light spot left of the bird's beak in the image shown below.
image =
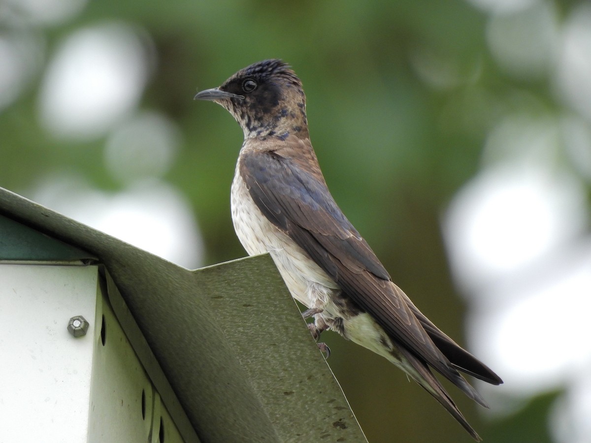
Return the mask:
[[41,85],[40,115],[47,130],[60,138],[93,139],[128,116],[148,80],[146,40],[119,22],[72,32]]

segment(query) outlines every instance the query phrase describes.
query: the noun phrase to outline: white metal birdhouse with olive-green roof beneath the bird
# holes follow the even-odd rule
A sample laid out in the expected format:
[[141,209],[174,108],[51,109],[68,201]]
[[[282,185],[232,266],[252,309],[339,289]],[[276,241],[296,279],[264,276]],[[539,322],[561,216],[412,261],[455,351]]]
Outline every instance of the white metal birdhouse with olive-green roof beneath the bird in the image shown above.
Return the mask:
[[0,442],[359,442],[268,255],[190,270],[0,188]]

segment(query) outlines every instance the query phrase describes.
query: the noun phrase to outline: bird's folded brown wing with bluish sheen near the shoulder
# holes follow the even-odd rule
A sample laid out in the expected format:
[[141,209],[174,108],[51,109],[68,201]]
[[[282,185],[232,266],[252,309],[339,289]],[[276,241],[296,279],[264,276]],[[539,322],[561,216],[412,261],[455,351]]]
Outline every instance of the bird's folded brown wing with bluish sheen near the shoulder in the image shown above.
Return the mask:
[[275,151],[245,151],[239,167],[265,217],[306,250],[395,341],[452,381],[461,377],[339,209],[323,179]]

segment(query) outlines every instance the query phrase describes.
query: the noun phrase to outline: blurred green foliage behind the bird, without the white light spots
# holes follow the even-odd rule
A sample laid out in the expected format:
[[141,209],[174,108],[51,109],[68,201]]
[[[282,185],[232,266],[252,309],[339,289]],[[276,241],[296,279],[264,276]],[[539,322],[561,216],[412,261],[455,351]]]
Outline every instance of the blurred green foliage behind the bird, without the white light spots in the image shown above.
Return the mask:
[[[483,12],[460,0],[90,1],[64,24],[30,30],[45,39],[42,66],[69,32],[112,20],[137,26],[153,44],[155,69],[140,107],[165,113],[183,133],[165,179],[194,208],[206,244],[204,264],[245,255],[229,212],[242,131],[221,107],[193,102],[193,95],[250,63],[282,58],[303,80],[311,140],[336,201],[394,281],[434,323],[465,343],[441,211],[478,171],[486,134],[514,106],[514,90],[537,95],[548,109],[555,106],[547,84],[499,70],[486,45]],[[3,27],[14,31],[9,23]],[[443,87],[426,82],[416,67],[421,57],[449,66],[451,80]],[[0,185],[27,196],[48,171],[76,171],[98,188],[117,190],[121,183],[104,166],[104,139],[57,140],[40,126],[43,73],[35,73],[0,114]],[[387,361],[334,334],[323,338],[369,441],[470,441]],[[494,368],[495,362],[487,363]],[[548,399],[489,421],[457,390],[450,392],[488,443],[550,441]]]

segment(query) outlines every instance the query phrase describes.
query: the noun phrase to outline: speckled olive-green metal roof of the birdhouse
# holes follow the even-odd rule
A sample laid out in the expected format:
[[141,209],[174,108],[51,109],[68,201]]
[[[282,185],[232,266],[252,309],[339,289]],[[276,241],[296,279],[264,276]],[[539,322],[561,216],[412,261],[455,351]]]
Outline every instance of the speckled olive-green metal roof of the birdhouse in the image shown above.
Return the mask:
[[190,271],[2,188],[0,213],[98,256],[202,441],[366,441],[268,255]]

